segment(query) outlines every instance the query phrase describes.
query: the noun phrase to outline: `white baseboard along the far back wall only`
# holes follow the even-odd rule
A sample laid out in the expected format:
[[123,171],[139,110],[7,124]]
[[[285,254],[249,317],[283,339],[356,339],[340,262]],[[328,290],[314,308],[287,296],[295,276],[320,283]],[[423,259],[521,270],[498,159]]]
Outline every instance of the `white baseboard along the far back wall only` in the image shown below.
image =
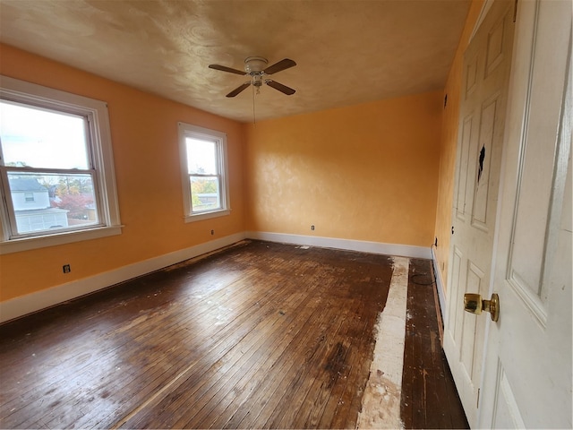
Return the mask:
[[381,242],[368,242],[364,240],[288,235],[283,233],[269,233],[263,231],[248,231],[246,232],[246,237],[251,239],[267,240],[269,242],[279,242],[282,244],[346,249],[348,251],[359,251],[361,253],[385,254],[410,258],[432,258],[430,248],[425,246],[384,244]]

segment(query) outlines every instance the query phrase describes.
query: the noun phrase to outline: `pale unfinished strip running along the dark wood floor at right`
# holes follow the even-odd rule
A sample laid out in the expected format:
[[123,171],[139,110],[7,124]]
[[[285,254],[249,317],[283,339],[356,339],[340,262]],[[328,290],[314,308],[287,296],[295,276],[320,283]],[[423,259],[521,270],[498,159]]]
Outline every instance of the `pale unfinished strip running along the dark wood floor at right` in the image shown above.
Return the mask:
[[394,257],[386,306],[377,331],[370,376],[356,428],[404,428],[400,419],[409,259]]

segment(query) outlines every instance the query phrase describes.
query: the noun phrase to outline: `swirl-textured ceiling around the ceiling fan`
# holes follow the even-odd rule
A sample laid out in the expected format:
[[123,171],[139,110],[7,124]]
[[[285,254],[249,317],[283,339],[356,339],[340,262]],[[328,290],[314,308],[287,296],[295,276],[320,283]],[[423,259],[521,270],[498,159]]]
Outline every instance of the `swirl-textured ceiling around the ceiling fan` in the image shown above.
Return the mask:
[[0,0],[0,40],[242,122],[244,58],[295,60],[257,119],[443,88],[470,0]]

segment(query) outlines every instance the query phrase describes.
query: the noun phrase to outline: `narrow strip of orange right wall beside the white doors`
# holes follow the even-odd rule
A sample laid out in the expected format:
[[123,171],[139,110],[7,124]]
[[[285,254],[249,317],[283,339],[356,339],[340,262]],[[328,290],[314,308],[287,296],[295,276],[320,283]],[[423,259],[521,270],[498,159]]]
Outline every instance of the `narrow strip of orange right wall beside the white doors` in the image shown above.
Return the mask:
[[436,257],[444,288],[448,281],[449,236],[451,235],[451,205],[454,195],[456,149],[458,146],[459,95],[462,84],[464,51],[482,10],[483,0],[473,0],[466,17],[466,26],[459,41],[456,56],[449,70],[444,96],[448,105],[443,110],[440,142],[440,179],[436,208],[435,237],[438,237]]

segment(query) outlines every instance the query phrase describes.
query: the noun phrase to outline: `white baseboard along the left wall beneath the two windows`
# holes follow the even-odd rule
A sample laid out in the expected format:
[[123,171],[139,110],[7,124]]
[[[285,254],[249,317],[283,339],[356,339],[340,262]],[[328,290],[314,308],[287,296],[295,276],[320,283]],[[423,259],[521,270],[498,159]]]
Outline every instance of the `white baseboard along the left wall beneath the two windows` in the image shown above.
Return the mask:
[[14,297],[13,299],[0,302],[0,323],[58,305],[73,298],[85,296],[99,289],[113,286],[125,280],[131,280],[152,271],[158,271],[177,262],[183,262],[198,255],[216,251],[224,246],[233,245],[243,240],[244,237],[244,233],[236,233],[235,235],[221,237],[173,253],[159,255],[149,260],[135,262],[114,271],[99,273],[82,280],[74,280],[26,296]]

